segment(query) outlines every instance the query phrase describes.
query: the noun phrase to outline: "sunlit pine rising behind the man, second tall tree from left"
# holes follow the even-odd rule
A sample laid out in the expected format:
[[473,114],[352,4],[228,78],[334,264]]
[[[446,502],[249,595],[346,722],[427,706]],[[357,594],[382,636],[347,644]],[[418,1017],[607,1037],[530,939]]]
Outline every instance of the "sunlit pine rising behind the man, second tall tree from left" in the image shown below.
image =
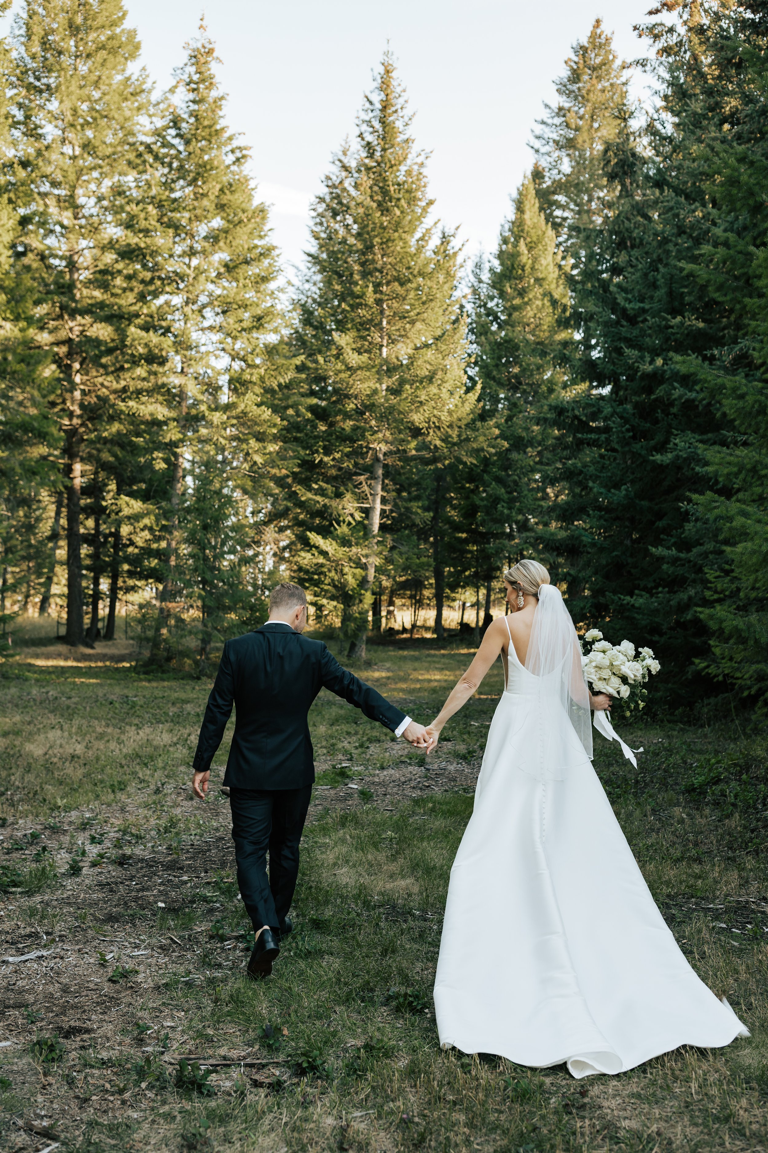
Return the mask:
[[214,45],[200,31],[177,73],[154,156],[167,356],[157,400],[169,468],[152,660],[167,658],[170,606],[187,590],[199,604],[205,664],[212,630],[244,591],[243,549],[254,548],[269,491],[277,423],[265,401],[280,356],[267,210],[254,202],[248,152],[226,127]]

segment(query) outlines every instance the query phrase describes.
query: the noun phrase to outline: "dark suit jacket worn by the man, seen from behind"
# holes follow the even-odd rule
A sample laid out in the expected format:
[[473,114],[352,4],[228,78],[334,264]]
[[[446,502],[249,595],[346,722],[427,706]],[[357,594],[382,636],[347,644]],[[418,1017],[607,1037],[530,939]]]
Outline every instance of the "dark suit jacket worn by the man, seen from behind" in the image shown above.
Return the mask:
[[301,789],[314,781],[307,713],[320,689],[343,696],[393,731],[405,714],[342,669],[322,641],[289,625],[267,625],[227,641],[208,696],[193,767],[205,771],[221,744],[233,704],[235,734],[225,784]]

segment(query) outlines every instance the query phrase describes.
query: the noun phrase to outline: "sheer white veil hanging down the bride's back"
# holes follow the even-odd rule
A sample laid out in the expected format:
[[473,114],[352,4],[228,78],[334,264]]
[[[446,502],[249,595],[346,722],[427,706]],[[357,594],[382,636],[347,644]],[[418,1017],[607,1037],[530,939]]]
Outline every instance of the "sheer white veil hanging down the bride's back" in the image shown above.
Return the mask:
[[592,717],[581,646],[554,585],[539,588],[525,668],[538,680],[541,728],[538,755],[520,768],[541,779],[562,779],[572,760],[575,736],[592,759]]

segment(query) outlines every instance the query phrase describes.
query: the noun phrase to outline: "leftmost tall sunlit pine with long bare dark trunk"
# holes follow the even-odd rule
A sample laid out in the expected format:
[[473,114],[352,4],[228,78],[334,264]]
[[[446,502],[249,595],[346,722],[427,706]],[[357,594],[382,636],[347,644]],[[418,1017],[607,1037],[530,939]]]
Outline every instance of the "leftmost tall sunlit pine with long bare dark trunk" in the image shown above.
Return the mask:
[[146,81],[120,0],[28,0],[14,31],[15,197],[22,271],[37,288],[37,338],[67,485],[67,632],[83,641],[82,485],[94,429],[120,387],[119,248],[126,186],[140,155]]

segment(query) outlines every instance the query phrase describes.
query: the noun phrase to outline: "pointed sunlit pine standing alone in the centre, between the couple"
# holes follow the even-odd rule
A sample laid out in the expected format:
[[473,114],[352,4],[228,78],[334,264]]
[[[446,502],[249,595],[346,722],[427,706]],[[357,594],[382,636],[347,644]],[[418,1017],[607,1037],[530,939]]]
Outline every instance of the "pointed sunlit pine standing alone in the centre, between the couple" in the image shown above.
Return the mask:
[[313,209],[294,337],[305,414],[292,434],[299,563],[325,568],[327,602],[342,604],[358,656],[387,545],[382,517],[389,527],[402,511],[397,468],[447,451],[476,405],[462,363],[458,254],[428,219],[426,158],[410,125],[387,54],[356,148],[343,146]]

